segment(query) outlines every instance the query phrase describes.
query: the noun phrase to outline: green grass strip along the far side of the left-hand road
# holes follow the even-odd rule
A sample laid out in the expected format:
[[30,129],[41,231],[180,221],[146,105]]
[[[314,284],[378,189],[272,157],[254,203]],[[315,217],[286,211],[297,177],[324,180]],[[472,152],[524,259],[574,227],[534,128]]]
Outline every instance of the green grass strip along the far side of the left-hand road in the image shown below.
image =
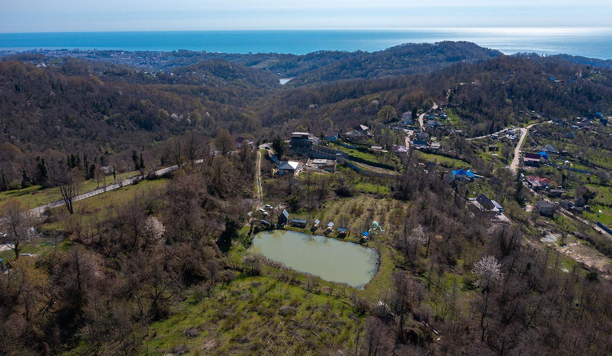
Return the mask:
[[[136,175],[138,175],[137,171],[120,173],[117,174],[117,181],[119,182],[120,179],[127,179]],[[106,177],[106,185],[109,184],[113,184],[113,176]],[[81,193],[86,193],[103,186],[103,180],[100,180],[100,183],[98,183],[97,180],[90,179],[83,182],[80,191]],[[0,193],[0,204],[10,198],[18,199],[31,209],[61,200],[58,188],[42,188],[40,185],[32,185],[32,187],[20,190],[2,191]]]

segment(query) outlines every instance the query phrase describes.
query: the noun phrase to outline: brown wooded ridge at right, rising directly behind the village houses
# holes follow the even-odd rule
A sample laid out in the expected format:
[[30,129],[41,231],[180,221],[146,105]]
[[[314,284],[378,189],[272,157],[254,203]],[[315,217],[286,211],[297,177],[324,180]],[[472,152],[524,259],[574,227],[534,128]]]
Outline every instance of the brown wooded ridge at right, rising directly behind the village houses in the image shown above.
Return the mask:
[[[550,80],[553,76],[565,83]],[[571,82],[570,82],[571,81]],[[313,132],[373,124],[383,106],[396,116],[446,102],[469,122],[470,135],[517,124],[520,113],[537,111],[570,118],[607,111],[612,71],[550,57],[499,56],[475,64],[453,64],[427,75],[353,80],[298,87],[271,95],[259,106],[264,125],[286,130],[302,125]]]

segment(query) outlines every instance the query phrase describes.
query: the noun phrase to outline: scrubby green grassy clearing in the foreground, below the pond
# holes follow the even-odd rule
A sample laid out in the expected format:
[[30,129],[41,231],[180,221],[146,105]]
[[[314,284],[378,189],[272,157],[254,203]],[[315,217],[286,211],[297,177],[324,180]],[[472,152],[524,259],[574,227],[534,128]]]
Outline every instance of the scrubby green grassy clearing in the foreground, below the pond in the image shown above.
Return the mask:
[[[183,344],[192,355],[319,354],[332,339],[330,352],[351,347],[360,324],[348,300],[329,289],[240,276],[209,297],[194,290],[173,316],[151,325],[155,336],[146,349],[165,354]],[[187,328],[193,328],[192,336],[185,335]]]

